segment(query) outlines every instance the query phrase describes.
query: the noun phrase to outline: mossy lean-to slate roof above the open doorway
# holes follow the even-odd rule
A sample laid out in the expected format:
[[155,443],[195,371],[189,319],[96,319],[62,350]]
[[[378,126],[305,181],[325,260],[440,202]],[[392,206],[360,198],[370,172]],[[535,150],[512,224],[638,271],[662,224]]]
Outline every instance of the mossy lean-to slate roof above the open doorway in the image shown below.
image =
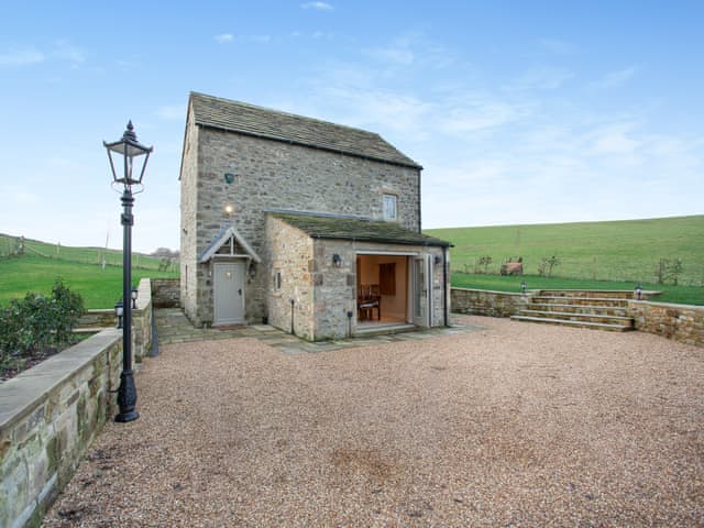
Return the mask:
[[396,222],[382,222],[332,215],[302,212],[270,212],[315,239],[358,240],[402,245],[435,245],[448,248],[444,240],[410,231]]

